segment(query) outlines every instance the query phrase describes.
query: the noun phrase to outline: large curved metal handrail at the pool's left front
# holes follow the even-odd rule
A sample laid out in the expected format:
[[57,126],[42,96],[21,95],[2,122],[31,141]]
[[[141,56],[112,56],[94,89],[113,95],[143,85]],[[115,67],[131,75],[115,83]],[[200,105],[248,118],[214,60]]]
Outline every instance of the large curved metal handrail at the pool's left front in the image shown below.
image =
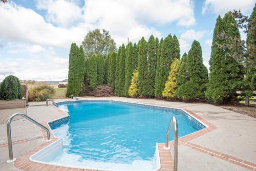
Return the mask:
[[29,121],[31,121],[32,123],[36,124],[37,126],[40,126],[42,129],[46,130],[47,132],[47,142],[51,141],[51,137],[50,137],[50,131],[48,130],[47,127],[45,127],[44,125],[38,123],[37,121],[35,121],[34,119],[28,117],[27,115],[24,115],[23,113],[15,113],[13,114],[7,124],[6,124],[6,127],[7,127],[7,139],[8,139],[8,150],[9,150],[9,160],[7,160],[7,163],[11,163],[11,162],[14,162],[16,159],[13,158],[13,153],[12,153],[12,134],[11,134],[11,122],[12,122],[12,119],[15,117],[15,116],[22,116],[26,119],[28,119]]

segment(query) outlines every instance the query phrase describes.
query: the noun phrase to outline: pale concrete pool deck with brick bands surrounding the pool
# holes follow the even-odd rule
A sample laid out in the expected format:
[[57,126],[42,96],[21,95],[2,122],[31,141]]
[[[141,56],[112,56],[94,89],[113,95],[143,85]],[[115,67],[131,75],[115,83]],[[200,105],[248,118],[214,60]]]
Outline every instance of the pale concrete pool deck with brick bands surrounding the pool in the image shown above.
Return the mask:
[[[255,118],[205,103],[183,103],[124,97],[85,97],[80,100],[85,99],[110,99],[182,108],[206,123],[209,126],[207,129],[179,138],[178,170],[256,170]],[[66,100],[70,99],[56,99],[55,102]],[[27,115],[43,124],[65,116],[65,113],[55,106],[47,107],[44,105],[45,103],[30,102]],[[6,163],[8,159],[6,123],[0,124],[0,170],[87,170],[28,161],[30,155],[52,143],[46,143],[45,136],[44,131],[25,119],[13,121],[13,154],[17,160],[14,163]],[[170,142],[171,146],[172,144],[173,142]],[[159,144],[159,152],[161,170],[172,170],[171,153],[163,149],[163,144]]]

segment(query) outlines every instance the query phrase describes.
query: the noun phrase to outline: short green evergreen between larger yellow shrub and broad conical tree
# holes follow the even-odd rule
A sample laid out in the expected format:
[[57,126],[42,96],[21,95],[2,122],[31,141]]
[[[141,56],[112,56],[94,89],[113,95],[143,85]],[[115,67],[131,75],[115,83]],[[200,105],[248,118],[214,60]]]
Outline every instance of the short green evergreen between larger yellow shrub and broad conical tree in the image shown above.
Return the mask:
[[187,74],[187,54],[184,53],[181,61],[180,61],[180,67],[177,74],[177,87],[179,88],[182,84],[189,81],[189,77]]

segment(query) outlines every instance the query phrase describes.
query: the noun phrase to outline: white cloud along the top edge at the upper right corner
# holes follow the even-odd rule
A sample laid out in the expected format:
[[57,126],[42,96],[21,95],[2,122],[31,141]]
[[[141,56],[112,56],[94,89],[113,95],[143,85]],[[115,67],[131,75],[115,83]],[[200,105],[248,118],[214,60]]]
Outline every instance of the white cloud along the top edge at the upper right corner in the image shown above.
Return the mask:
[[234,9],[241,9],[242,12],[246,12],[252,9],[255,4],[255,0],[205,0],[204,6],[202,7],[202,13],[212,11],[218,15],[224,15],[228,11]]

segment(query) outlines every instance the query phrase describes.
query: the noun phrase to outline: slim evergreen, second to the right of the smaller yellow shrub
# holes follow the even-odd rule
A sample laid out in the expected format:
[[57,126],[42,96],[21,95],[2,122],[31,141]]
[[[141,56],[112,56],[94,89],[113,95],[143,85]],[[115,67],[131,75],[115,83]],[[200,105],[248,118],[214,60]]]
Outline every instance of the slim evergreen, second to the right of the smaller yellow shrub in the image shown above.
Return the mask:
[[148,39],[148,96],[155,95],[155,77],[157,66],[156,42],[153,35]]

